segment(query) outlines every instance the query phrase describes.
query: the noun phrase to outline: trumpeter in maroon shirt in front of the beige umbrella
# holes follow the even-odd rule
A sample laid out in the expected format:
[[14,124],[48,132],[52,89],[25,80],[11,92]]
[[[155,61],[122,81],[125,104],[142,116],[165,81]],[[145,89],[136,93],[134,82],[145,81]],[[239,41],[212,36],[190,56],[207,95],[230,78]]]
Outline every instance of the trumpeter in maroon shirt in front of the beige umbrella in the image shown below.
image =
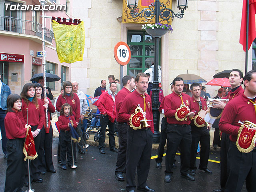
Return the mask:
[[[193,83],[190,86],[190,90],[192,92],[191,105],[193,106],[194,110],[196,110],[195,116],[197,116],[201,110],[207,110],[206,100],[200,97],[201,89],[199,84]],[[199,141],[201,144],[199,169],[208,174],[212,174],[212,171],[207,168],[210,154],[210,127],[206,122],[204,122],[202,125],[195,122],[196,118],[194,118],[194,120],[192,120],[190,123],[192,135],[190,152],[190,174],[196,175],[196,151]]]

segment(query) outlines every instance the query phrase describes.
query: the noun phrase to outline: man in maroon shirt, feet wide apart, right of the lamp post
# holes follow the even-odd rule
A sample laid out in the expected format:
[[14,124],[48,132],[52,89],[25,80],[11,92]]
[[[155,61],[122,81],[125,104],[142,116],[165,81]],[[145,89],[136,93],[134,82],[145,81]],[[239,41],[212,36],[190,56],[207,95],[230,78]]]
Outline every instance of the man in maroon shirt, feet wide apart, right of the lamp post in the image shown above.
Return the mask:
[[[189,160],[191,148],[191,126],[189,118],[194,117],[194,109],[191,106],[191,98],[187,94],[182,93],[183,79],[176,77],[173,80],[174,92],[165,97],[164,115],[167,118],[167,151],[166,151],[166,170],[165,182],[171,181],[172,164],[178,147],[180,147],[181,168],[180,173],[183,178],[194,181],[195,178],[189,174]],[[185,105],[188,114],[184,120],[177,120],[175,114],[177,109]],[[190,112],[190,110],[192,112]],[[177,115],[176,115],[177,116]]]

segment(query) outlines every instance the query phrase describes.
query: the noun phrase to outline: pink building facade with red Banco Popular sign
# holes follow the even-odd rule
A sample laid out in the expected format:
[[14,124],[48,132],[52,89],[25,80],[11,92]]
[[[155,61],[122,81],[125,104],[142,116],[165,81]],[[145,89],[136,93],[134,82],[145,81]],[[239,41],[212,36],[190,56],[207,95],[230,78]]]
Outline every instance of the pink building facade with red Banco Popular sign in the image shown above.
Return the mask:
[[[6,5],[40,5],[32,0],[0,0],[0,73],[2,81],[10,86],[12,93],[20,94],[25,83],[31,82],[33,74],[43,72],[42,66],[42,15],[41,11],[6,9]],[[68,9],[45,11],[46,16],[69,17],[72,4],[66,0],[48,0],[47,5],[63,4]],[[45,19],[46,72],[62,79],[49,82],[52,93],[59,93],[63,82],[70,80],[71,64],[60,63],[56,53],[51,19]],[[37,54],[39,52],[39,54]]]

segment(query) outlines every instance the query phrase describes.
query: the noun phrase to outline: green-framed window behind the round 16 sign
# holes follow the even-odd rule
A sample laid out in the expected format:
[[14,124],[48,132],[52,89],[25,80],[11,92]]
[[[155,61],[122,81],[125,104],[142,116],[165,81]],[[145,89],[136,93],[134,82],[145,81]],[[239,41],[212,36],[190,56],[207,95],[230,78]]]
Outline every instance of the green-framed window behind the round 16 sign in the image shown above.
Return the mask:
[[146,31],[128,31],[127,42],[131,50],[131,60],[127,64],[127,75],[136,76],[154,64],[154,38]]

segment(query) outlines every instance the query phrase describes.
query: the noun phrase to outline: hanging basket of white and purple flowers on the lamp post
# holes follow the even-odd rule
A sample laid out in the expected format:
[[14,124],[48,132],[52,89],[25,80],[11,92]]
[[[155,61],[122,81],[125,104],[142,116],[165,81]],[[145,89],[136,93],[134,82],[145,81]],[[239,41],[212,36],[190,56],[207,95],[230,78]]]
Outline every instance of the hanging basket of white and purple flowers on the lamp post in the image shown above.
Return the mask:
[[142,29],[146,30],[152,37],[162,37],[167,32],[172,32],[172,26],[168,24],[145,24],[142,25]]

